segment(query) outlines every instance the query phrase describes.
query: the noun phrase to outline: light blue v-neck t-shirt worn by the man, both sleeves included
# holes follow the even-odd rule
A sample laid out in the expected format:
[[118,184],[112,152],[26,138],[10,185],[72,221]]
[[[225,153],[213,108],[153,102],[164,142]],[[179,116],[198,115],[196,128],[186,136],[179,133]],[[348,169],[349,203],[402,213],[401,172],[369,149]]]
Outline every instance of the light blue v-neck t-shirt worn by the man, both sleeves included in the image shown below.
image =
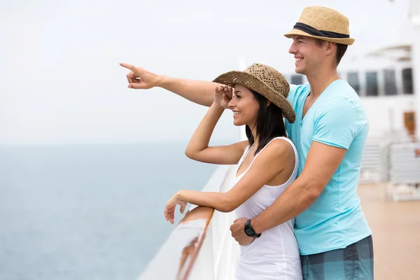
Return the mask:
[[335,80],[302,119],[309,84],[290,85],[288,101],[295,123],[285,121],[295,143],[302,172],[312,141],[346,149],[346,155],[323,193],[295,218],[295,236],[301,255],[345,248],[372,234],[356,193],[360,162],[369,123],[360,98],[345,80]]

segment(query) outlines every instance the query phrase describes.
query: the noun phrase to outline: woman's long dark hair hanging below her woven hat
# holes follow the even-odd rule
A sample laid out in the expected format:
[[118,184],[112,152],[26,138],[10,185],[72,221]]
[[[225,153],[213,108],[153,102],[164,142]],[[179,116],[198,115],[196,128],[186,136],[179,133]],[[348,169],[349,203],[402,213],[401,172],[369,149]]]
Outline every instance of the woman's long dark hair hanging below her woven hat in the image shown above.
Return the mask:
[[[250,89],[251,90],[251,89]],[[253,97],[260,105],[258,109],[257,120],[255,121],[255,130],[259,139],[258,147],[255,150],[256,155],[265,145],[274,137],[286,136],[286,129],[283,122],[283,114],[281,109],[272,102],[267,106],[267,98],[262,94],[251,90]],[[250,145],[254,144],[255,139],[251,132],[251,128],[246,125],[246,137]]]

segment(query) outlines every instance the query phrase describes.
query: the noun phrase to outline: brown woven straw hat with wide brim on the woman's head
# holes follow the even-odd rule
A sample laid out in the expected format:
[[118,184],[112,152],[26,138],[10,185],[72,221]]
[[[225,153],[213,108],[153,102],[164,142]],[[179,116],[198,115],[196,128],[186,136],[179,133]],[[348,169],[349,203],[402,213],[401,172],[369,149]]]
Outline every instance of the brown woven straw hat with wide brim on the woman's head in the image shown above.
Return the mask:
[[276,69],[265,64],[254,63],[244,71],[229,71],[213,80],[234,87],[235,84],[243,85],[262,94],[274,105],[279,106],[283,116],[289,123],[295,122],[295,111],[287,101],[290,86],[286,78]]

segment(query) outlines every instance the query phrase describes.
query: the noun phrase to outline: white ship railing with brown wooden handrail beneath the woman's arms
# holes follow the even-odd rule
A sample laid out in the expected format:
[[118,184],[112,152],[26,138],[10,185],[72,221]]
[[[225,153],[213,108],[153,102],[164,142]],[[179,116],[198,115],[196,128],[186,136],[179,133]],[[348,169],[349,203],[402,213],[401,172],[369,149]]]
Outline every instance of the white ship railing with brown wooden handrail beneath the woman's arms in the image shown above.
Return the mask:
[[[234,172],[230,165],[218,167],[202,191],[225,192]],[[229,230],[235,211],[189,210],[137,280],[235,279],[239,245]]]

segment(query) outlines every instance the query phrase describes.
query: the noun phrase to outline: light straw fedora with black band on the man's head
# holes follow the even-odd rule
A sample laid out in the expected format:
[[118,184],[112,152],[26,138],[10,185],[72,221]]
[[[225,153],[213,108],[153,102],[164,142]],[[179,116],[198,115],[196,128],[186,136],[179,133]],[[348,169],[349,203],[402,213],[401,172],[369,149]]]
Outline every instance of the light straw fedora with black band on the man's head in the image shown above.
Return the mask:
[[287,38],[293,35],[318,38],[323,41],[352,45],[349,19],[332,8],[309,6],[304,8],[299,20],[291,31],[284,34]]

